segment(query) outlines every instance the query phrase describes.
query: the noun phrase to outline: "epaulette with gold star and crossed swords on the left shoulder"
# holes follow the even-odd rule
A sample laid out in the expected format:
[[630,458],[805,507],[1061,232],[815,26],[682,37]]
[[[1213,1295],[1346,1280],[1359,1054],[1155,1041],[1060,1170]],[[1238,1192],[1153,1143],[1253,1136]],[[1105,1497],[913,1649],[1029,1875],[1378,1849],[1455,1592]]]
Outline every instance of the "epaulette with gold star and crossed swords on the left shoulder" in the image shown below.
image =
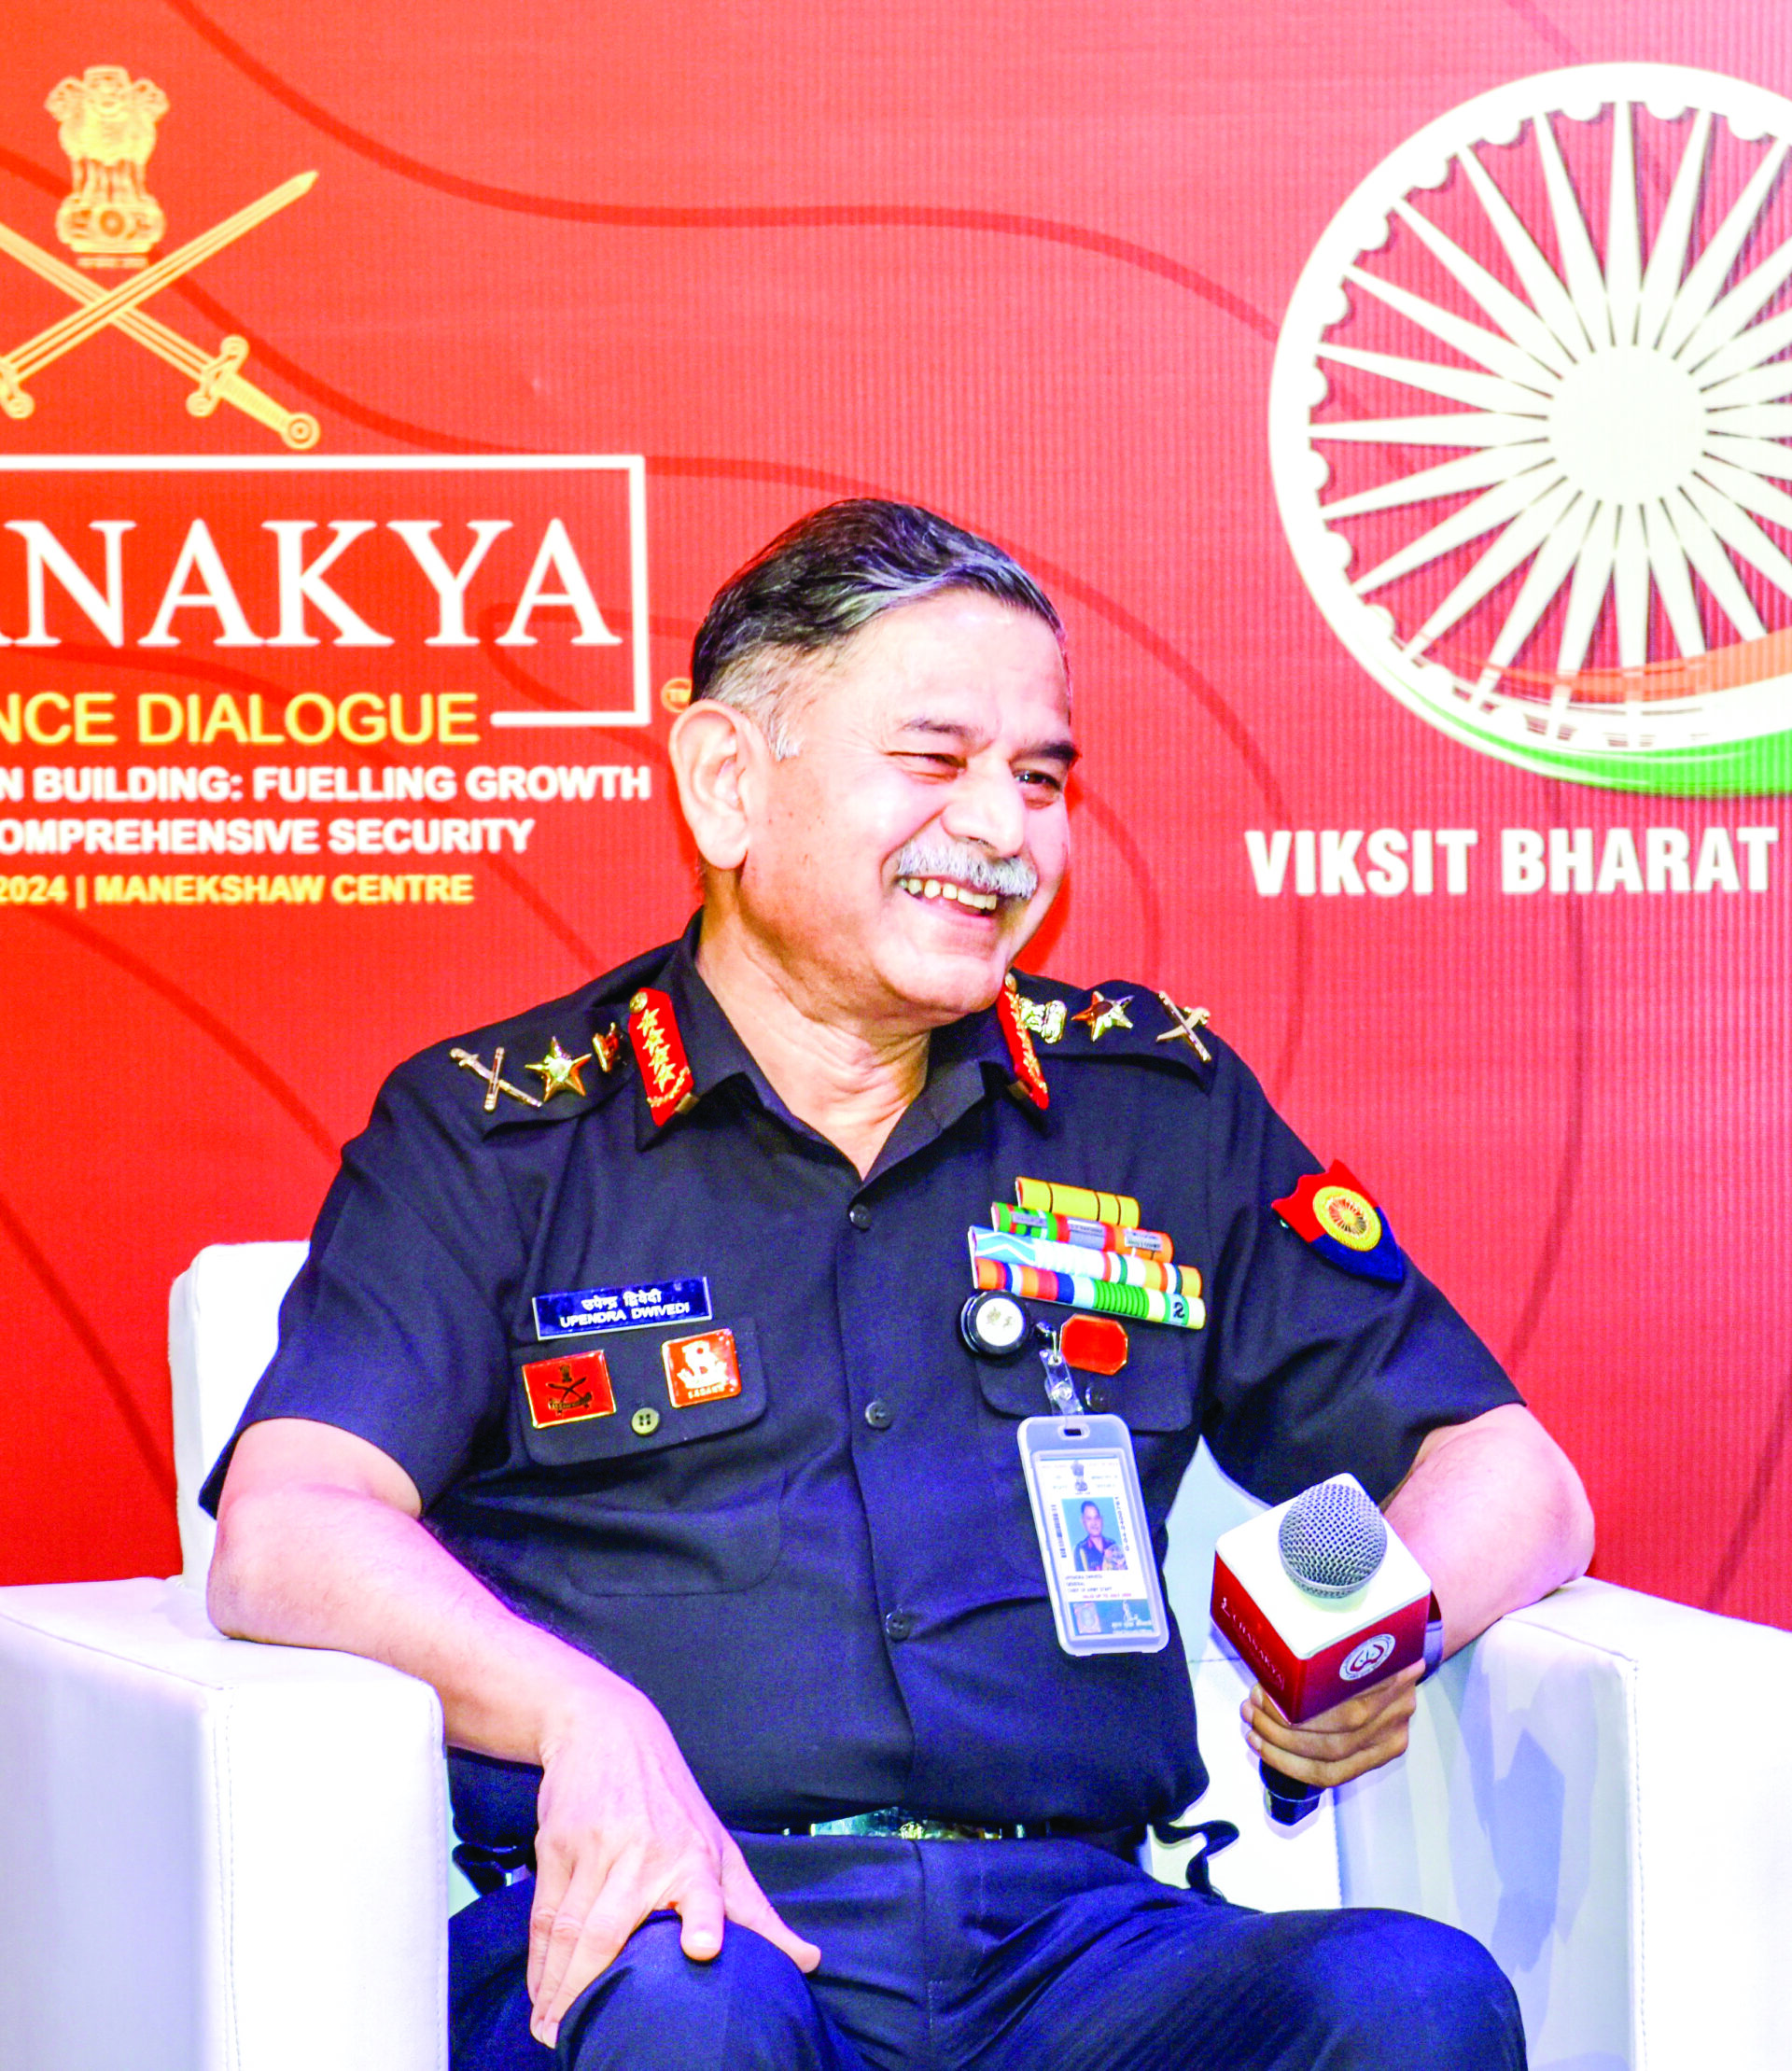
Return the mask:
[[628,1077],[630,1007],[667,953],[636,957],[597,984],[445,1044],[481,1129],[563,1122],[603,1106]]

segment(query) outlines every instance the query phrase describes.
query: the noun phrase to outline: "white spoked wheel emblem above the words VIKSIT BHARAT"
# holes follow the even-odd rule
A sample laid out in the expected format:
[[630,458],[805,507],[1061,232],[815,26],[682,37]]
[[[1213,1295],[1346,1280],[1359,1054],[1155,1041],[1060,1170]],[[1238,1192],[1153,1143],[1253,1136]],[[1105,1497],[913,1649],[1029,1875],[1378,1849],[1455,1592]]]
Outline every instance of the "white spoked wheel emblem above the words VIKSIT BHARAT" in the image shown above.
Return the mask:
[[1519,79],[1386,157],[1295,286],[1270,462],[1357,661],[1487,754],[1792,789],[1792,101]]

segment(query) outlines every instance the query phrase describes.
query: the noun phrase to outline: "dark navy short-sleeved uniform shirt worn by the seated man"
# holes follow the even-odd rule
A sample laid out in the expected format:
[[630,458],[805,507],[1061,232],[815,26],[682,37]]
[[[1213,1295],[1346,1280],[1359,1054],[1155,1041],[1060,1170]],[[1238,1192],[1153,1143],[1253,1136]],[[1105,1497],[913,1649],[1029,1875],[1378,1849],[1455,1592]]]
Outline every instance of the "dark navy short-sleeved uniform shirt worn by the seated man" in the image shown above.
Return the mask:
[[[1015,1443],[1050,1408],[1044,1375],[961,1342],[965,1230],[1019,1176],[1102,1187],[1200,1267],[1206,1328],[1129,1321],[1129,1359],[1090,1404],[1133,1431],[1158,1555],[1204,1433],[1266,1499],[1347,1468],[1380,1499],[1429,1429],[1512,1385],[1417,1272],[1357,1278],[1270,1212],[1318,1162],[1220,1040],[1210,1064],[1156,1042],[1170,1023],[1150,988],[1104,984],[1131,1029],[1096,1038],[1067,1017],[1088,994],[1021,982],[1067,1007],[1036,1046],[1044,1110],[994,1011],[936,1031],[922,1093],[860,1178],[771,1089],[694,942],[692,926],[392,1075],[244,1423],[319,1419],[398,1460],[452,1553],[659,1704],[729,1825],[891,1804],[1175,1816],[1206,1781],[1185,1649],[1059,1649]],[[452,1058],[489,1067],[503,1046],[503,1077],[539,1091],[526,1064],[551,1042],[588,1052],[640,986],[669,996],[694,1079],[663,1122],[628,1042],[541,1108],[487,1112]],[[709,1321],[539,1336],[537,1296],[673,1280],[706,1284]],[[661,1344],[711,1328],[733,1334],[740,1392],[673,1406]],[[524,1369],[566,1359],[578,1383],[592,1348],[613,1414],[541,1423]]]

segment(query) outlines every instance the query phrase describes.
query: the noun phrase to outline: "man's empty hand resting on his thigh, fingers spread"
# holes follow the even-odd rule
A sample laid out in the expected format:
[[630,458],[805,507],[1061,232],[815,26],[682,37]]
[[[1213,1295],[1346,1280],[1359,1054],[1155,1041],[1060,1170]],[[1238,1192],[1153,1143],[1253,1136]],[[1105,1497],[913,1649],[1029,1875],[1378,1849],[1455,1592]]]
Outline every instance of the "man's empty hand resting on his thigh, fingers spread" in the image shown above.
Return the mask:
[[723,1924],[752,1928],[798,1965],[820,1951],[779,1920],[709,1808],[671,1729],[617,1686],[603,1717],[576,1713],[543,1748],[528,1920],[530,2030],[553,2046],[566,2009],[653,1912],[680,1916],[680,1947],[706,1963]]

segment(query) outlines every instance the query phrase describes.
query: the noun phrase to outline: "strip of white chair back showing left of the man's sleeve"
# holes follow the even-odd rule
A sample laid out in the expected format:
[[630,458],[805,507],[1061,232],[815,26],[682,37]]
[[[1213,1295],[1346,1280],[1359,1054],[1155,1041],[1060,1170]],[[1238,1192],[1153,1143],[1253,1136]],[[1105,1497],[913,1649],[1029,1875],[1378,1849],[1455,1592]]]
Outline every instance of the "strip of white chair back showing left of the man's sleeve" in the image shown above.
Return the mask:
[[273,1359],[280,1301],[305,1251],[305,1245],[207,1245],[168,1296],[180,1580],[193,1588],[205,1588],[213,1539],[199,1489],[236,1429],[249,1390]]

